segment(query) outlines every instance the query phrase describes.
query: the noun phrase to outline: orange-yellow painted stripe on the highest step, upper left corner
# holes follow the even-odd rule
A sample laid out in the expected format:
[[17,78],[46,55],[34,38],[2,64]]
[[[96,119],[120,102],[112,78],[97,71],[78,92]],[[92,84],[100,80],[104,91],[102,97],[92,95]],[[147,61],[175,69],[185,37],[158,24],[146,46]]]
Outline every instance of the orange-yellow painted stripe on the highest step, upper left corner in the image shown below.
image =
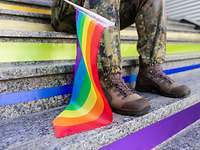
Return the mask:
[[30,6],[21,6],[21,5],[12,5],[12,4],[5,4],[0,2],[0,9],[5,10],[14,10],[14,11],[21,11],[27,13],[37,13],[37,14],[44,14],[44,15],[51,15],[50,9],[45,8],[33,8]]

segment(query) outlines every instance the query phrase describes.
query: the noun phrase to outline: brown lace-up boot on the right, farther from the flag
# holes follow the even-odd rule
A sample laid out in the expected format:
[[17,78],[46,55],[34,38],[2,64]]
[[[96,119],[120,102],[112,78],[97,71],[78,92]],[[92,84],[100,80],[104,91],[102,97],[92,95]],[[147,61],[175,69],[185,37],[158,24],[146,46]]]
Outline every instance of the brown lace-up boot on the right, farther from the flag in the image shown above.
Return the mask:
[[185,98],[191,93],[187,86],[178,85],[165,75],[159,64],[144,64],[141,58],[135,89],[140,92],[152,92],[172,98]]

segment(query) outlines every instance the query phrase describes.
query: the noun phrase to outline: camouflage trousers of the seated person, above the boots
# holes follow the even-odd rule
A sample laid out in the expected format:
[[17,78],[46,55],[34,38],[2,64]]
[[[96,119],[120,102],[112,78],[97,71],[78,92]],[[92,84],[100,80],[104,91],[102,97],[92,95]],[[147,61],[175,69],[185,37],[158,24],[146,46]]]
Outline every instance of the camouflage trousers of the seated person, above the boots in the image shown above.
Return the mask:
[[[52,24],[58,31],[75,33],[73,8],[54,0]],[[166,17],[164,0],[85,0],[80,4],[115,22],[105,31],[100,48],[100,64],[104,70],[120,71],[120,30],[135,23],[137,50],[144,63],[163,63],[166,52]],[[59,18],[60,17],[60,18]],[[64,22],[64,23],[63,23]],[[63,24],[62,24],[63,23]]]

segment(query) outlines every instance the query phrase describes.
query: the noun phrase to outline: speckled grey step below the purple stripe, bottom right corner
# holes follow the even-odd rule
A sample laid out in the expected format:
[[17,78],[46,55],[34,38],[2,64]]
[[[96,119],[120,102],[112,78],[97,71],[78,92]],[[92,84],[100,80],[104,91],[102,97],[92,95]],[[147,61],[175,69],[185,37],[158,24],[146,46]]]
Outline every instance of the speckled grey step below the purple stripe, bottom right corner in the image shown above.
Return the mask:
[[156,150],[199,150],[200,120],[190,125],[182,132],[157,146]]

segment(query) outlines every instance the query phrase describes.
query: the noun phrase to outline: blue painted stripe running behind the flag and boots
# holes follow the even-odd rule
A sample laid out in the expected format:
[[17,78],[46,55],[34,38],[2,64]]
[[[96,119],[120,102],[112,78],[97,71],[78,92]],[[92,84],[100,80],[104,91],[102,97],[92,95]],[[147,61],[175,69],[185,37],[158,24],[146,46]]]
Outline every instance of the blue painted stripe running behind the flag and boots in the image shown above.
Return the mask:
[[[179,68],[173,68],[165,70],[164,72],[168,75],[176,74],[184,71],[194,70],[200,68],[200,64],[191,65]],[[136,81],[136,74],[131,74],[130,76],[125,76],[123,79],[126,83],[134,83]],[[72,92],[73,85],[64,85],[51,88],[35,89],[31,91],[16,92],[9,94],[0,94],[0,106],[25,103],[30,101],[36,101],[44,98],[49,98],[53,96],[70,94]]]

